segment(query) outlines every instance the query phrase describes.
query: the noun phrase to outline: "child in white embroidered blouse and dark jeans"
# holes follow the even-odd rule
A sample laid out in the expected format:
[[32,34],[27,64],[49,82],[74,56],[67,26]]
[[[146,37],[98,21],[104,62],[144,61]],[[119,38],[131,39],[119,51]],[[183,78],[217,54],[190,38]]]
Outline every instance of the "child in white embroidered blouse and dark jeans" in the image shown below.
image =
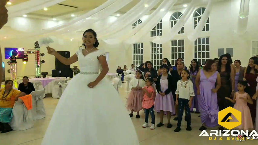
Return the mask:
[[179,132],[181,130],[181,121],[184,113],[184,108],[186,106],[186,121],[187,127],[186,130],[190,131],[191,128],[191,113],[190,108],[192,105],[192,100],[194,97],[194,87],[190,78],[190,72],[187,69],[182,70],[181,72],[182,79],[177,82],[176,88],[176,105],[179,104],[179,112],[178,112],[178,123],[177,127],[174,130],[175,132]]

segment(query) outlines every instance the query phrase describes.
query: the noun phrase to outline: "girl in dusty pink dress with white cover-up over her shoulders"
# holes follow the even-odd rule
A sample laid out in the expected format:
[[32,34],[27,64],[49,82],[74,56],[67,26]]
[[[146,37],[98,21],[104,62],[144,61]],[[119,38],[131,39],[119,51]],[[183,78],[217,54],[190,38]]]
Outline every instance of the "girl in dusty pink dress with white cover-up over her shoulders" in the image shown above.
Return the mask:
[[142,76],[142,72],[137,70],[135,73],[136,77],[133,78],[129,84],[129,89],[131,90],[126,108],[131,111],[130,117],[133,116],[133,111],[137,112],[136,118],[140,118],[139,111],[142,110],[142,88],[145,86],[145,81]]

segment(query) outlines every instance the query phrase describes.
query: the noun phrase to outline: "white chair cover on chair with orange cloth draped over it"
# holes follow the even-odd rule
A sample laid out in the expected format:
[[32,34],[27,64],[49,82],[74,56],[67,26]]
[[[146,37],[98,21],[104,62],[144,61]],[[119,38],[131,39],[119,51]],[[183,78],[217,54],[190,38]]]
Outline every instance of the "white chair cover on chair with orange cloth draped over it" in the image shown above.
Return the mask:
[[15,102],[12,113],[13,118],[8,124],[13,130],[21,131],[33,127],[31,110],[27,110],[20,98]]

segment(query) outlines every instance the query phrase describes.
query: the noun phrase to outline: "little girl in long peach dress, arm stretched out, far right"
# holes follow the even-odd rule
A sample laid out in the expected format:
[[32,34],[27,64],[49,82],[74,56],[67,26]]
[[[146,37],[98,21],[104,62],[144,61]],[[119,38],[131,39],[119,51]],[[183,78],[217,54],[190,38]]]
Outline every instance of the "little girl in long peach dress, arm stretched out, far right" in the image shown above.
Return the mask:
[[[237,128],[242,130],[249,130],[253,129],[253,121],[250,113],[250,109],[247,106],[247,103],[253,104],[253,100],[251,99],[250,95],[244,91],[247,87],[246,81],[238,81],[237,89],[238,92],[235,92],[233,100],[225,97],[225,99],[230,100],[232,103],[236,103],[234,108],[241,112],[242,115],[242,124],[237,126]],[[231,114],[231,118],[233,118],[232,122],[236,122],[236,118],[233,117]]]

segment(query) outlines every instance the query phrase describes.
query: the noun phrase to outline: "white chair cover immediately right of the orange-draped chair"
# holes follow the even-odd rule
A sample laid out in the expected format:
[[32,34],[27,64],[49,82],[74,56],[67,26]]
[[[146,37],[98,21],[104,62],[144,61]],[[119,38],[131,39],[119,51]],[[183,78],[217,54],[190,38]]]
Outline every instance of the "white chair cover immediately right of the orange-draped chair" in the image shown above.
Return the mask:
[[46,111],[45,111],[44,103],[43,103],[45,91],[44,90],[33,91],[33,92],[31,92],[31,95],[32,95],[31,113],[32,113],[33,120],[45,118]]

